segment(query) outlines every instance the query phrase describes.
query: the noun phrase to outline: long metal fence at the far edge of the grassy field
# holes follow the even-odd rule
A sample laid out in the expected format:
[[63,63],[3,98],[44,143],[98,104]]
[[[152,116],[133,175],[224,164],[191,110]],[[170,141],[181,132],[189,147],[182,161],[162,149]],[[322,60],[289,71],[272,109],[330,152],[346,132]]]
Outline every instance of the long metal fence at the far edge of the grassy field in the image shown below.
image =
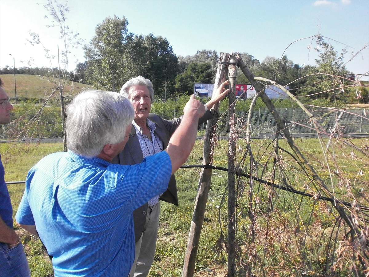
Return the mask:
[[[334,128],[338,118],[338,128],[342,133],[368,134],[369,118],[365,109],[340,110],[310,110],[318,123],[328,132]],[[310,118],[301,109],[277,109],[286,121],[291,133],[317,133],[313,128]],[[237,111],[236,126],[240,135],[245,134],[248,111]],[[179,117],[179,111],[166,111],[159,114],[163,118],[172,119]],[[199,131],[206,129],[206,123],[199,126]],[[266,108],[253,110],[251,115],[251,134],[257,136],[259,133],[275,133],[277,130],[276,122]],[[220,112],[217,126],[217,134],[227,136],[229,132],[229,113]],[[14,139],[18,134],[22,137],[61,137],[62,122],[60,110],[45,108],[42,113],[37,110],[17,110],[11,115],[11,123],[0,127],[0,138],[4,140]]]

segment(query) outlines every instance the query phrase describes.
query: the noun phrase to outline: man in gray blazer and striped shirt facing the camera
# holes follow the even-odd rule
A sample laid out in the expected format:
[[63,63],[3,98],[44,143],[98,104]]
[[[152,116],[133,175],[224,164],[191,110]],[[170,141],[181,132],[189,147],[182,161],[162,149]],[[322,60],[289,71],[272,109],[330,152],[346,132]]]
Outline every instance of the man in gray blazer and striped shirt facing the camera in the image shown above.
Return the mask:
[[[210,109],[215,103],[223,99],[230,89],[225,81],[217,89],[213,99],[206,103],[206,113],[199,119],[199,124],[213,117]],[[154,101],[154,88],[152,83],[141,76],[132,78],[125,83],[120,91],[130,99],[135,118],[132,122],[131,136],[123,151],[114,158],[113,163],[124,165],[139,164],[149,156],[163,151],[169,142],[169,138],[179,126],[182,116],[172,120],[165,120],[155,113],[150,113],[151,104]],[[178,206],[177,185],[174,175],[170,177],[168,189],[133,213],[135,228],[135,261],[130,271],[130,276],[147,276],[154,261],[156,238],[159,228],[159,199]]]

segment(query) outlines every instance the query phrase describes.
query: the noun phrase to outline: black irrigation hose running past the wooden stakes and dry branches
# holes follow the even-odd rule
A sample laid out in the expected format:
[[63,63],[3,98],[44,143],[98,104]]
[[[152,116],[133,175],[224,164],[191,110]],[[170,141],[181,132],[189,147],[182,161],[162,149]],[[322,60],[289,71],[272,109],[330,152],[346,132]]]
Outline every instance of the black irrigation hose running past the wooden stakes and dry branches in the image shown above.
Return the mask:
[[[228,168],[225,168],[225,167],[217,167],[217,166],[214,166],[214,165],[203,165],[203,164],[195,164],[195,165],[182,165],[180,168],[211,168],[211,169],[217,169],[217,170],[223,170],[223,171],[227,171],[228,172]],[[260,179],[258,177],[251,177],[249,174],[246,174],[246,173],[236,173],[237,175],[241,175],[243,177],[246,177],[246,178],[251,178],[255,181],[258,181],[258,182],[261,182],[263,184],[266,184],[266,185],[269,185],[271,187],[274,187],[274,188],[279,188],[279,189],[282,189],[283,191],[289,191],[289,192],[293,192],[293,193],[296,193],[296,194],[300,194],[300,195],[304,195],[304,196],[308,196],[308,197],[311,197],[313,198],[314,195],[312,194],[308,194],[306,192],[302,192],[302,191],[297,191],[296,189],[293,189],[293,188],[286,188],[286,187],[283,187],[281,185],[276,185],[276,184],[273,184],[271,182],[268,182],[268,181],[265,181],[263,179]],[[329,198],[329,197],[325,197],[325,196],[320,196],[318,195],[317,199],[322,199],[322,200],[325,200],[325,201],[329,201],[329,202],[338,202],[340,204],[343,204],[345,206],[348,206],[348,207],[351,207],[352,208],[352,205],[350,202],[346,202],[346,201],[342,201],[342,200],[339,200],[339,199],[333,199],[333,198]],[[369,207],[366,207],[366,206],[362,206],[362,205],[358,205],[359,208],[361,209],[365,209],[367,211],[369,211]]]

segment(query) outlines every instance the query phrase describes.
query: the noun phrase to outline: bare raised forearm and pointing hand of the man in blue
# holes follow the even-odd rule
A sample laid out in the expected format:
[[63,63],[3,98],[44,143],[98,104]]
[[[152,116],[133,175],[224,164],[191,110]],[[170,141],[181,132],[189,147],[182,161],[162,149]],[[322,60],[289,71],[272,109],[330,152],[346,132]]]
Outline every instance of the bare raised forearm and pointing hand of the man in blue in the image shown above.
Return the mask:
[[197,124],[199,118],[205,112],[205,107],[192,95],[189,102],[184,106],[183,112],[182,121],[165,149],[172,161],[172,174],[186,162],[192,151],[196,140]]

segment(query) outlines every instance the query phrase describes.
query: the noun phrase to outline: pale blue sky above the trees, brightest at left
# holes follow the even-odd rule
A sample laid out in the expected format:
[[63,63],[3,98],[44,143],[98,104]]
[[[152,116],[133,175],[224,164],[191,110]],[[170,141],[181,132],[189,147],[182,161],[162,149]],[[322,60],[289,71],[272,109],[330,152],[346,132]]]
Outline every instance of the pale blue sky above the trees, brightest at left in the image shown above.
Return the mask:
[[[52,54],[56,55],[58,43],[61,48],[58,31],[46,28],[50,21],[44,18],[45,2],[0,0],[0,67],[13,66],[9,54],[16,67],[26,66],[20,61],[31,57],[34,66],[50,66],[42,48],[26,40],[31,30]],[[218,54],[247,52],[263,61],[267,56],[280,58],[284,52],[302,66],[315,64],[311,37],[321,33],[336,51],[348,47],[348,70],[369,71],[369,0],[70,0],[68,7],[67,24],[85,43],[92,39],[97,24],[115,14],[127,18],[132,33],[167,38],[176,55],[211,49]],[[70,58],[69,69],[83,62],[82,47],[72,49]],[[57,60],[53,61],[56,65]]]

